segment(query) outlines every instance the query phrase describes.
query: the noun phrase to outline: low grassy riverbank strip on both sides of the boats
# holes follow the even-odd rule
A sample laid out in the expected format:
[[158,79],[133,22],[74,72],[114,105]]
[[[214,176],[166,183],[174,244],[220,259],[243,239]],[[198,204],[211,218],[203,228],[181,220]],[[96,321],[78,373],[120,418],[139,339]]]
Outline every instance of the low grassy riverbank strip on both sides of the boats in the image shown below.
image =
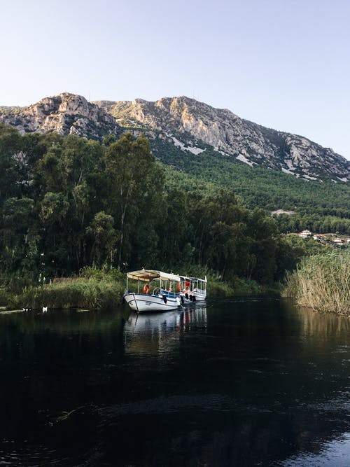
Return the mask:
[[[194,275],[194,274],[193,274]],[[198,274],[200,275],[200,274]],[[279,285],[261,286],[255,281],[236,277],[230,282],[207,275],[209,298],[235,295],[279,295]],[[94,268],[83,270],[78,277],[55,279],[45,286],[26,286],[19,293],[1,291],[0,305],[10,309],[107,309],[120,305],[125,290],[126,274],[118,270],[104,272]]]

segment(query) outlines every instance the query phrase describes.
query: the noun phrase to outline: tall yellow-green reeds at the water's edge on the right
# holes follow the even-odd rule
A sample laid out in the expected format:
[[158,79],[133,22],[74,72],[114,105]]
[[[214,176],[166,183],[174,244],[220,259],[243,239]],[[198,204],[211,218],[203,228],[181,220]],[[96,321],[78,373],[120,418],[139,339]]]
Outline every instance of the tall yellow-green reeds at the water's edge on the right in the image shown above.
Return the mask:
[[304,258],[288,275],[285,294],[318,312],[350,314],[350,250]]

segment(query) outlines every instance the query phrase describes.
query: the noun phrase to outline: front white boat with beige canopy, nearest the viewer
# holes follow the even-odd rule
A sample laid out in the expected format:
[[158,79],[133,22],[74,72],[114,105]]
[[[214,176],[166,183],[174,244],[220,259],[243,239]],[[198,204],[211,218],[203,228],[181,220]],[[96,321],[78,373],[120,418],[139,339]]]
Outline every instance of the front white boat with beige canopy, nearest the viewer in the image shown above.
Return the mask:
[[123,301],[137,313],[176,309],[181,306],[180,276],[145,269],[128,272]]

